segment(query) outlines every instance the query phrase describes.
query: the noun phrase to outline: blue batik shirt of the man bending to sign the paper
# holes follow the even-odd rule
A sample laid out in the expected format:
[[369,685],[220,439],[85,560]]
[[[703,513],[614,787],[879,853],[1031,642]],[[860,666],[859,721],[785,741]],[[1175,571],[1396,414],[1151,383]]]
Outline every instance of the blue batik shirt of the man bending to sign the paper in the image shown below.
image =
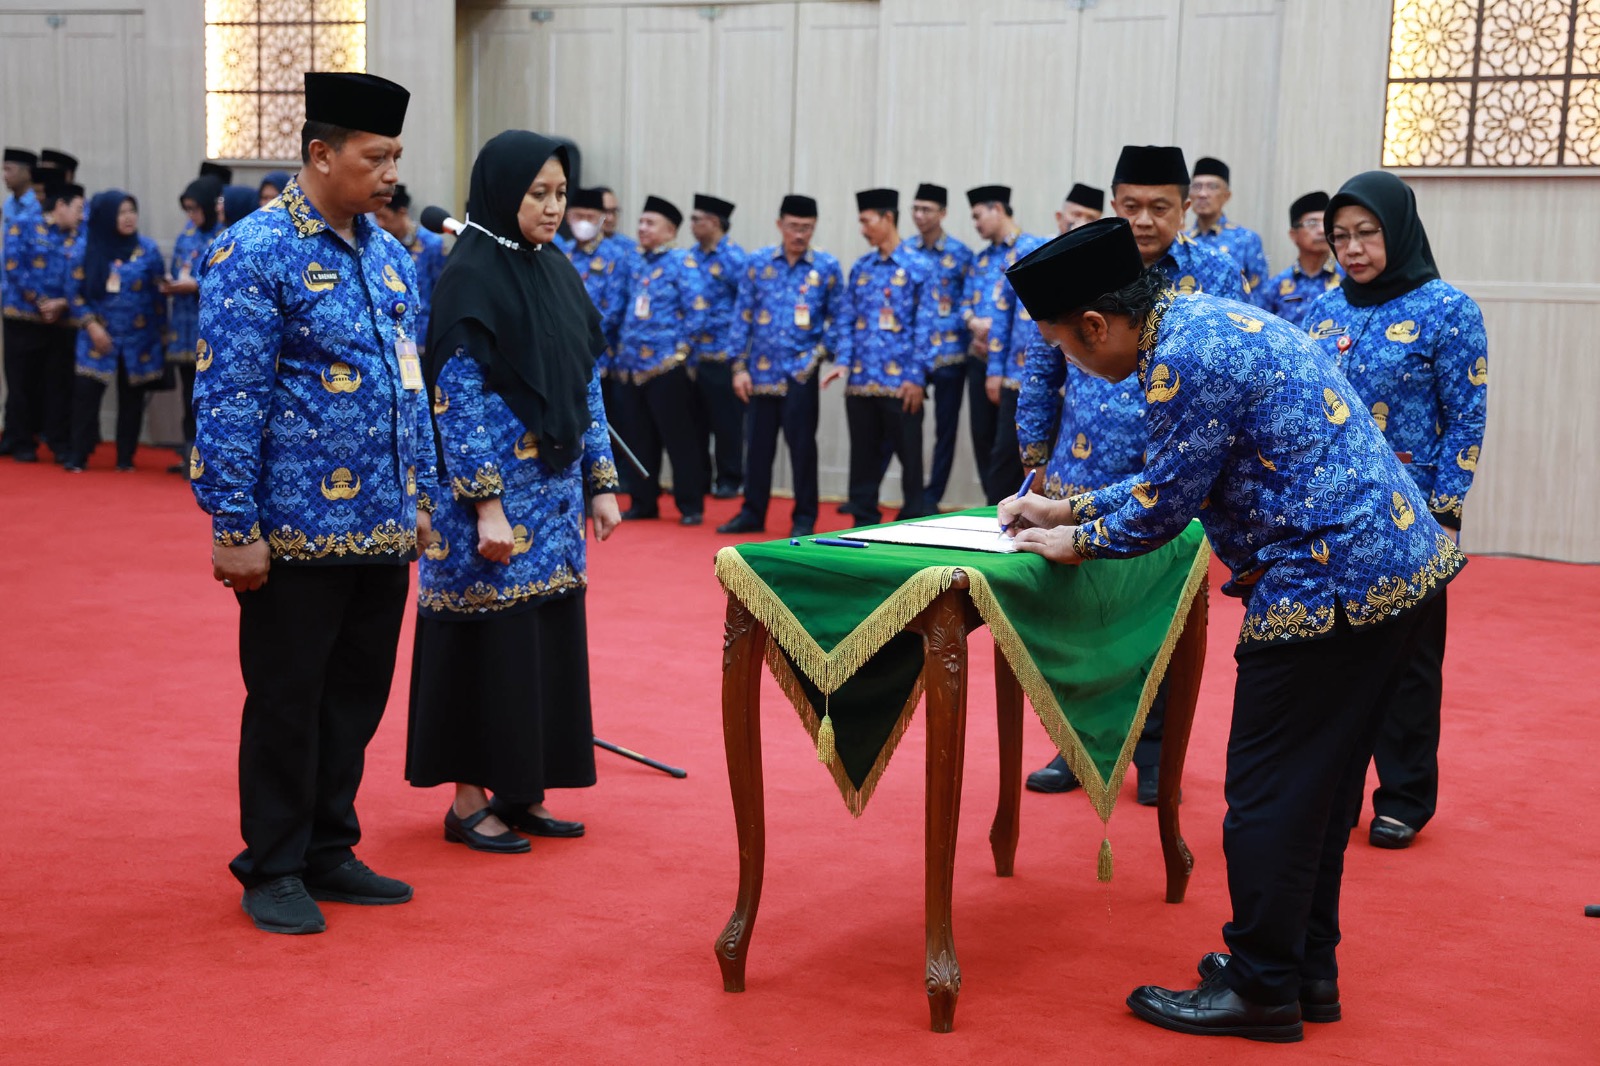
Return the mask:
[[1144,471],[1072,496],[1085,559],[1142,555],[1200,519],[1245,600],[1240,650],[1386,621],[1466,563],[1350,383],[1259,307],[1174,296],[1144,322]]

